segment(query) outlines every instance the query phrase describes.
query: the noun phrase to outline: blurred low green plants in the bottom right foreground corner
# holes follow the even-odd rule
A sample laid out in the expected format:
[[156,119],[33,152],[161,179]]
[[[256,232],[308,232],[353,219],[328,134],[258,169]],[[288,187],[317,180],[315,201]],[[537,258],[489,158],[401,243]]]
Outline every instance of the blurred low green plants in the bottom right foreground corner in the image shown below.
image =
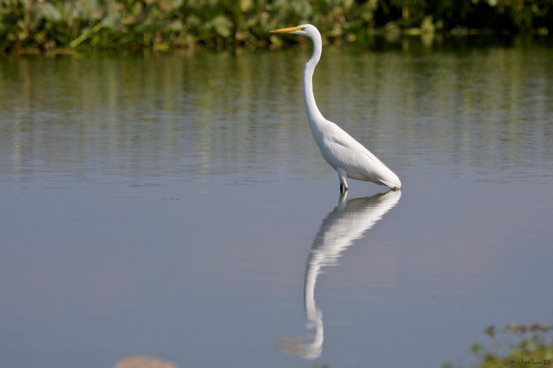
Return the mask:
[[[551,367],[553,365],[553,325],[532,326],[509,325],[503,330],[496,330],[494,326],[488,327],[485,332],[493,341],[489,349],[481,344],[474,344],[472,351],[478,358],[478,368],[507,368],[507,367]],[[498,336],[522,336],[522,340],[513,342],[500,342]],[[507,351],[505,353],[505,348]],[[445,363],[444,368],[457,367]]]

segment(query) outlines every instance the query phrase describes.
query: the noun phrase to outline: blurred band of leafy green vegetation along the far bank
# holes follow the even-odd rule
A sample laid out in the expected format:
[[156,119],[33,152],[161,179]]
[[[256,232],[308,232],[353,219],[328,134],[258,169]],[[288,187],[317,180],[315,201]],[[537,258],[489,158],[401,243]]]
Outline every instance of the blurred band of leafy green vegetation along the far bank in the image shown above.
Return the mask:
[[0,0],[0,52],[279,47],[316,24],[327,43],[378,32],[538,32],[553,0]]

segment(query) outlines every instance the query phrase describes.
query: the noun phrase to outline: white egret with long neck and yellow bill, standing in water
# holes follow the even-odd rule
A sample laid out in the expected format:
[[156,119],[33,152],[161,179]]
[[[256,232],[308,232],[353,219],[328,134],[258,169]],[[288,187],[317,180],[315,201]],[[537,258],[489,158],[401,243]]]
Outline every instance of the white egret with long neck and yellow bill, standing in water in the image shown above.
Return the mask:
[[346,177],[364,180],[390,188],[401,188],[400,178],[373,153],[353,137],[323,117],[313,95],[313,72],[321,59],[323,43],[319,30],[311,24],[271,30],[272,33],[293,33],[307,36],[313,42],[313,55],[303,68],[303,103],[311,133],[321,150],[321,155],[338,173],[340,193],[348,190]]

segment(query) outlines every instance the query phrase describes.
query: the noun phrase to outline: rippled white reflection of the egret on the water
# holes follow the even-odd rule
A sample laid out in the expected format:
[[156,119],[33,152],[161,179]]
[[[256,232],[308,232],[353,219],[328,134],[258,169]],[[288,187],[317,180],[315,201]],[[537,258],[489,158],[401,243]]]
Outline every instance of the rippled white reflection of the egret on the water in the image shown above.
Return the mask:
[[337,266],[342,253],[390,211],[401,195],[401,191],[392,190],[372,197],[347,200],[347,192],[341,193],[338,205],[326,215],[315,235],[306,264],[303,298],[307,328],[311,333],[299,342],[281,345],[281,351],[306,359],[316,359],[321,355],[324,340],[323,313],[315,303],[315,284],[321,269]]

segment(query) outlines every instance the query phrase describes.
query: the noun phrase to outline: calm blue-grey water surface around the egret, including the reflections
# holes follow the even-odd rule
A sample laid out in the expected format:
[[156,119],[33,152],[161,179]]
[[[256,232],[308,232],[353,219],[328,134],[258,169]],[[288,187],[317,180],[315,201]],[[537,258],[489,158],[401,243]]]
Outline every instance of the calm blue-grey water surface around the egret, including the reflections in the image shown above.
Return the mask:
[[[469,364],[553,319],[553,48],[0,59],[0,365]],[[407,45],[408,46],[408,45]]]

